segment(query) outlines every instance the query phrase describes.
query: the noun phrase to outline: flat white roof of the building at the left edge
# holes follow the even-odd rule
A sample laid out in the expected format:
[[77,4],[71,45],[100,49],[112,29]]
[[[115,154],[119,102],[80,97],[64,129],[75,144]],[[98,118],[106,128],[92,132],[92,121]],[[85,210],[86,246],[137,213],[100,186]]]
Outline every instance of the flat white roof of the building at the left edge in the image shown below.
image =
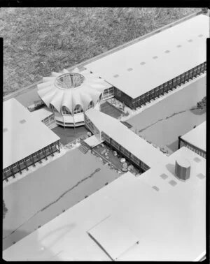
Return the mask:
[[59,140],[15,98],[3,102],[3,168]]

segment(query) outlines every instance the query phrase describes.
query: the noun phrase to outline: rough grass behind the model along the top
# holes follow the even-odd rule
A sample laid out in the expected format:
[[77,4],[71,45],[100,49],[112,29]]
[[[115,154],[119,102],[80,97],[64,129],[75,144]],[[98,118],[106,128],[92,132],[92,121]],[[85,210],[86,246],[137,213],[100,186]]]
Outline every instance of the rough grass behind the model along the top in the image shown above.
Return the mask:
[[1,8],[3,95],[201,8]]

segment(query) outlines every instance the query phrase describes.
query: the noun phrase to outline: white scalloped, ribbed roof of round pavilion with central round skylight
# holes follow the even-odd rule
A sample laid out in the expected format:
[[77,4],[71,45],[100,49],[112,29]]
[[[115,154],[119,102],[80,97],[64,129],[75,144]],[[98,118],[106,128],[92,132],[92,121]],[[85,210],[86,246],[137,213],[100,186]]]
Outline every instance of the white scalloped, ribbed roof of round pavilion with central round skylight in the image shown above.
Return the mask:
[[81,105],[83,111],[93,101],[96,105],[104,89],[111,87],[98,75],[90,71],[79,71],[74,68],[69,72],[52,72],[50,77],[43,77],[43,83],[37,85],[38,95],[45,105],[53,105],[61,113],[65,106],[72,113],[76,105]]

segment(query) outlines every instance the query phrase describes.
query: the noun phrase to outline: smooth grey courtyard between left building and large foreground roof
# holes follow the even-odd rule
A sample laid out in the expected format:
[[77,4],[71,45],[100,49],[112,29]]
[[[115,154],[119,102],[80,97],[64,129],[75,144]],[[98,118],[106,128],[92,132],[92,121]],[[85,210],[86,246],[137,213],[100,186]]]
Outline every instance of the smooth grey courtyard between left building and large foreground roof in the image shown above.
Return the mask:
[[73,149],[6,186],[3,200],[8,212],[3,220],[3,249],[119,176],[92,154]]

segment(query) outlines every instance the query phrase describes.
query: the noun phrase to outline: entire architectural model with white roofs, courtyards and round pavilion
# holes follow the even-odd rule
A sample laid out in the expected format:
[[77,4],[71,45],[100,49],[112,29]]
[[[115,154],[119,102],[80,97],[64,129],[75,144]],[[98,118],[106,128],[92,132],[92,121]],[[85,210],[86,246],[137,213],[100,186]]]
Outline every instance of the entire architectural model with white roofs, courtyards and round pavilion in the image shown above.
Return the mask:
[[[209,17],[193,15],[4,98],[4,260],[205,257],[207,38]],[[36,195],[10,202],[24,184]]]

